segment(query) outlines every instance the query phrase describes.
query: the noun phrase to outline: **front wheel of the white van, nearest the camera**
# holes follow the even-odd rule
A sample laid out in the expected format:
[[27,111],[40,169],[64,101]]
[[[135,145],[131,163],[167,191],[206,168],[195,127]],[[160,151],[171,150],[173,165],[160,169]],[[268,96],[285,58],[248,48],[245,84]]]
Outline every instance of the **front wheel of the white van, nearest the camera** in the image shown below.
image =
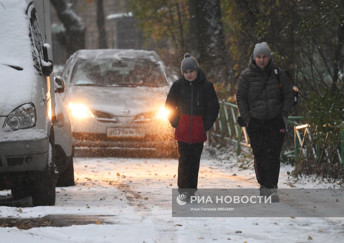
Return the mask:
[[31,192],[33,206],[54,206],[55,185],[54,156],[51,156],[51,162],[47,163],[43,172],[39,173],[33,182]]

